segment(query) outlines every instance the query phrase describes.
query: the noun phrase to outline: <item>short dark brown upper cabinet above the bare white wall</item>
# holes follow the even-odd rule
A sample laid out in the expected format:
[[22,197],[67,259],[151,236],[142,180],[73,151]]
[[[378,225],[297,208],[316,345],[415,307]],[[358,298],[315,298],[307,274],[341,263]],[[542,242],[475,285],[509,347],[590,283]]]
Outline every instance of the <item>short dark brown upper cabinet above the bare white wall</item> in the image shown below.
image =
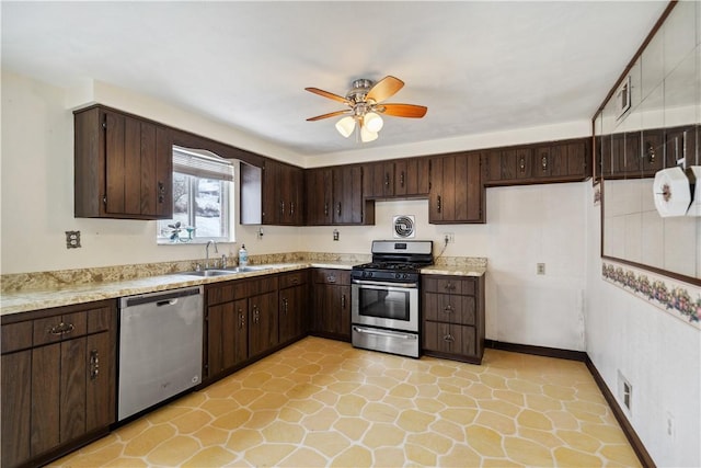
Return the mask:
[[589,138],[483,151],[484,184],[577,182],[591,176]]

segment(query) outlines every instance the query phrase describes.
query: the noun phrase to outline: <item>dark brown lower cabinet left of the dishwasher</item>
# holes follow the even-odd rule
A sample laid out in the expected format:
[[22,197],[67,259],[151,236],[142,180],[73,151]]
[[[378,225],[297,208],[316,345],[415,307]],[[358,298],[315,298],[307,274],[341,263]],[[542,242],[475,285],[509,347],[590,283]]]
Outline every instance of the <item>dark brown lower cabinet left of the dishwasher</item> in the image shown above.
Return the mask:
[[2,467],[41,465],[115,422],[116,303],[2,319]]

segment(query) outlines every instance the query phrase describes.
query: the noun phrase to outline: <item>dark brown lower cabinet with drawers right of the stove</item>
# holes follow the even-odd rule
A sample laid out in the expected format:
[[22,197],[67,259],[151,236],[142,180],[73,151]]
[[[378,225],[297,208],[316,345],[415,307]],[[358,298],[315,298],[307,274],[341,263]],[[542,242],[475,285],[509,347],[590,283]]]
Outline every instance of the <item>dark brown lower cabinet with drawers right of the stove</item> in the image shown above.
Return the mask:
[[481,364],[484,354],[484,276],[422,276],[423,351]]

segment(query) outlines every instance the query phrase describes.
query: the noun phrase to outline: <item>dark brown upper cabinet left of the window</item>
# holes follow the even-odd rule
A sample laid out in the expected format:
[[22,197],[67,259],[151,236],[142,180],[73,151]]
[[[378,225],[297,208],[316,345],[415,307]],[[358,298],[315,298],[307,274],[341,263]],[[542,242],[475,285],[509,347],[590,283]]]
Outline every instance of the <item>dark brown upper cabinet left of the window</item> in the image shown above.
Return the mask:
[[103,106],[74,112],[74,216],[170,219],[170,129]]

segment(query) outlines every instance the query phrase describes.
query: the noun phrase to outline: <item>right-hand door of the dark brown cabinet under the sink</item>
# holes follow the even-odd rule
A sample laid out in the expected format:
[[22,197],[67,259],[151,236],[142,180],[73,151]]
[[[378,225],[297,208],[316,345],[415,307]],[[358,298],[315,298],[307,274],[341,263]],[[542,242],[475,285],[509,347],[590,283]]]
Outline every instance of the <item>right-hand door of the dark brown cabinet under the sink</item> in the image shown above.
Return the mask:
[[277,292],[249,298],[249,356],[278,344]]

